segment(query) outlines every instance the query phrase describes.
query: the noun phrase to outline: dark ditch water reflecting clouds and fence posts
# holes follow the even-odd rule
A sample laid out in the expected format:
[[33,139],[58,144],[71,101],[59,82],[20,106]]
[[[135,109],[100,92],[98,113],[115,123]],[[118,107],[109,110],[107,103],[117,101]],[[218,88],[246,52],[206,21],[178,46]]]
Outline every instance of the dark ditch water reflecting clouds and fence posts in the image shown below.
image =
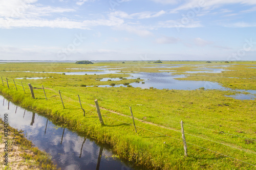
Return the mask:
[[8,124],[23,130],[35,147],[51,154],[61,169],[137,169],[114,159],[110,150],[67,128],[54,125],[46,117],[8,102],[0,95],[0,117],[8,114]]

